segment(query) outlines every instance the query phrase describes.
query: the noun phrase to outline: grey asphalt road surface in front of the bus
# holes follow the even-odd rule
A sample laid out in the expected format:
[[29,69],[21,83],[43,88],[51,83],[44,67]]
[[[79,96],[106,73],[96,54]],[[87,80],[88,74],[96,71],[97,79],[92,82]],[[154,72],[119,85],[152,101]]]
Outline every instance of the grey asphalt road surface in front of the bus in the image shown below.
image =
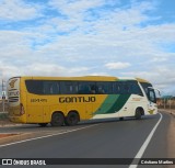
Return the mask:
[[[162,114],[153,137],[143,153],[144,158],[167,157],[167,130],[170,116]],[[82,123],[77,126],[38,127],[20,125],[0,127],[0,132],[49,132],[49,136],[0,146],[0,158],[135,158],[139,149],[160,121],[161,115],[144,116],[142,120],[105,121]],[[106,159],[107,161],[107,159]],[[82,167],[82,166],[56,166]],[[128,165],[100,165],[83,167],[128,167]],[[138,166],[139,168],[143,166]],[[151,167],[151,166],[149,166]],[[156,167],[156,166],[154,166]],[[166,167],[166,166],[159,166]]]

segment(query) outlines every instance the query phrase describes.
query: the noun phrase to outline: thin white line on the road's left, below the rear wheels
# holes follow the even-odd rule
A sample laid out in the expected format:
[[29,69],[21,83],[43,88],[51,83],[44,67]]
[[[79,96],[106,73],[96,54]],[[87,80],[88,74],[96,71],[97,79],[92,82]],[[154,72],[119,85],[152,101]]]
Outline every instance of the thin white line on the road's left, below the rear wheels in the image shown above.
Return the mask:
[[40,137],[34,137],[34,138],[30,138],[30,139],[25,139],[25,141],[14,142],[14,143],[9,143],[9,144],[0,145],[0,147],[21,144],[21,143],[31,142],[31,141],[35,141],[35,139],[40,139],[40,138],[46,138],[46,137],[51,137],[51,136],[56,136],[56,135],[62,135],[62,134],[80,131],[80,130],[96,126],[96,125],[98,125],[98,124],[93,124],[93,125],[89,125],[89,126],[84,126],[84,127],[80,127],[80,128],[74,128],[74,130],[68,130],[68,131],[63,131],[63,132],[57,133],[57,134],[51,134],[51,135],[46,135],[46,136],[40,136]]

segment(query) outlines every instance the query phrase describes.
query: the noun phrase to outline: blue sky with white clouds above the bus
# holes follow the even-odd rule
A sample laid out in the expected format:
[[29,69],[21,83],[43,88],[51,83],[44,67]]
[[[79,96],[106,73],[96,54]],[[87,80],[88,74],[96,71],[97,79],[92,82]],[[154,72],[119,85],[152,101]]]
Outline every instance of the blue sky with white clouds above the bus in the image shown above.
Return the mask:
[[175,96],[174,0],[0,0],[0,80],[116,76]]

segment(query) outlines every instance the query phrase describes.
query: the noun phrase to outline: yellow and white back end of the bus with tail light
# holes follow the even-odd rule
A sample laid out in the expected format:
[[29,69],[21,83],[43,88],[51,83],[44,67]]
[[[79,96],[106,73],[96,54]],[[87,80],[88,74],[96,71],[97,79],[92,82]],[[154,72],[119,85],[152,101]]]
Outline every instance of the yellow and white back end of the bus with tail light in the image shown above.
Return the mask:
[[14,77],[8,82],[9,119],[14,123],[26,123],[24,107],[21,103],[21,78]]

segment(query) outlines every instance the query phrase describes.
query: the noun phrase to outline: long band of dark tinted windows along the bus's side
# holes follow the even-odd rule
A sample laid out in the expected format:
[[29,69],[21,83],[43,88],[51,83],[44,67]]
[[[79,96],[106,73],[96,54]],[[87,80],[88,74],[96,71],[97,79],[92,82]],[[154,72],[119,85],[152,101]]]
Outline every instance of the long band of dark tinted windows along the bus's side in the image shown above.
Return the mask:
[[[137,81],[56,81],[26,80],[27,91],[35,94],[140,94]],[[144,87],[147,89],[147,87]]]

